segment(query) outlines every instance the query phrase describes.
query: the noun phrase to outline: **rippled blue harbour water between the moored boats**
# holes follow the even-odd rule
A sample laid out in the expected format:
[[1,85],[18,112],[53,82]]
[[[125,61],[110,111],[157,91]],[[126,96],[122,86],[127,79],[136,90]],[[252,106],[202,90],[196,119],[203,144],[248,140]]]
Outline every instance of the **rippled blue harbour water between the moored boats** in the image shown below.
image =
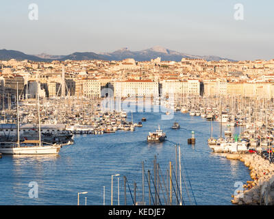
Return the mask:
[[[210,122],[201,117],[175,113],[172,120],[161,120],[162,113],[134,113],[134,123],[145,116],[143,127],[134,132],[118,131],[102,136],[75,136],[75,144],[65,146],[59,155],[10,156],[0,159],[0,205],[77,205],[77,192],[80,205],[103,205],[103,186],[105,204],[110,205],[111,175],[120,174],[120,204],[123,205],[123,176],[127,177],[130,189],[137,183],[137,201],[142,195],[142,164],[153,175],[153,159],[157,155],[163,179],[169,161],[175,166],[175,146],[171,142],[148,144],[149,131],[160,125],[167,139],[181,144],[184,168],[188,172],[192,190],[198,205],[231,205],[234,183],[245,183],[250,179],[249,170],[242,162],[228,160],[214,155],[206,144],[210,137]],[[131,114],[129,114],[128,120]],[[174,122],[184,129],[172,130]],[[219,123],[214,122],[214,136],[219,136]],[[187,144],[187,138],[195,131],[197,143]],[[224,129],[223,129],[224,131]],[[29,182],[38,183],[38,198],[29,198]],[[166,180],[165,180],[166,181]],[[114,177],[113,198],[117,205],[118,179]],[[183,184],[184,186],[184,184]],[[148,203],[146,182],[145,197]],[[173,194],[174,195],[174,194]],[[186,192],[183,191],[183,196]],[[162,196],[161,196],[162,197]],[[161,198],[164,203],[164,198]],[[175,199],[174,199],[175,203]],[[127,204],[132,198],[127,188]]]

